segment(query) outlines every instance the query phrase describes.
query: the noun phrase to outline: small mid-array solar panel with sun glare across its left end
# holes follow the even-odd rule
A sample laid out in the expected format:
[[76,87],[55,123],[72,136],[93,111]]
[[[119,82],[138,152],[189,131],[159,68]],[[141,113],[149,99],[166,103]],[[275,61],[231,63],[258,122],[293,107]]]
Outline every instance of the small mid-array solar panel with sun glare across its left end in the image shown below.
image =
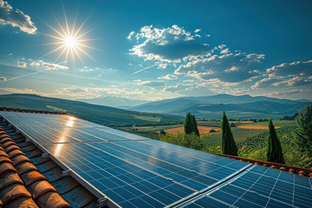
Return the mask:
[[103,139],[97,138],[95,136],[92,136],[90,134],[86,134],[84,132],[78,131],[73,128],[57,128],[57,127],[51,127],[51,129],[60,132],[64,135],[73,137],[81,142],[103,142]]

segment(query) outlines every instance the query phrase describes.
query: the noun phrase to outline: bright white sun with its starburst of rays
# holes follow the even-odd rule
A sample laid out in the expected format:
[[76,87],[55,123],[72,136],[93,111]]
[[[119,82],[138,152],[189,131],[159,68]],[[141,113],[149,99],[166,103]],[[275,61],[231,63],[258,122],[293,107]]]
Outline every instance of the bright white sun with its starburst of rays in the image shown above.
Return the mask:
[[[63,8],[63,15],[64,15],[64,23],[61,24],[61,22],[56,18],[56,16],[52,13],[50,10],[54,20],[56,21],[59,28],[54,28],[47,22],[41,20],[45,25],[47,25],[51,30],[53,30],[54,34],[47,34],[39,32],[42,35],[45,35],[47,37],[52,38],[53,42],[45,43],[41,45],[55,45],[55,48],[51,51],[47,52],[46,54],[42,55],[40,58],[43,58],[45,56],[48,56],[50,54],[57,54],[56,59],[54,60],[54,63],[61,61],[61,63],[68,63],[68,60],[71,59],[74,68],[76,68],[76,60],[79,59],[79,61],[85,66],[85,63],[83,61],[83,56],[87,56],[88,58],[92,59],[96,63],[102,65],[97,60],[95,60],[87,51],[87,48],[94,49],[94,50],[100,50],[97,48],[94,48],[90,45],[88,45],[89,41],[92,40],[98,40],[102,38],[87,38],[86,35],[94,30],[96,27],[89,29],[85,32],[83,31],[83,26],[91,16],[93,10],[89,13],[89,15],[84,19],[82,24],[79,27],[76,27],[76,21],[78,16],[78,10],[79,6],[77,7],[76,15],[73,20],[73,23],[70,24],[67,15],[65,12],[64,4],[62,2],[62,8]],[[101,51],[101,50],[100,50]]]

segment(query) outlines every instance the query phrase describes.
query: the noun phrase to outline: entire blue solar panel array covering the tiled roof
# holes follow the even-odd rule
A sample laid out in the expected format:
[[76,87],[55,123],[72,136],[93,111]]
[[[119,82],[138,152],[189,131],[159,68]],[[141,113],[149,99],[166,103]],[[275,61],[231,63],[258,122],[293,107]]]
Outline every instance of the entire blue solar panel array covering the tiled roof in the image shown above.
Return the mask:
[[116,206],[312,207],[312,181],[308,177],[151,140],[68,115],[0,114],[93,193]]

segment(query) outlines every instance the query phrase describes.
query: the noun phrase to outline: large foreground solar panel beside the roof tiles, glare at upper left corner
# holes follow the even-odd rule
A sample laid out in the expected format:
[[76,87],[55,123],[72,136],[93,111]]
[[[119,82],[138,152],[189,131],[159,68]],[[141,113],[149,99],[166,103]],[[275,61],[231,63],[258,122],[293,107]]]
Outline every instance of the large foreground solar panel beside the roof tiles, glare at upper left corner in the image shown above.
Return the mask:
[[42,146],[122,207],[162,208],[195,193],[87,144]]

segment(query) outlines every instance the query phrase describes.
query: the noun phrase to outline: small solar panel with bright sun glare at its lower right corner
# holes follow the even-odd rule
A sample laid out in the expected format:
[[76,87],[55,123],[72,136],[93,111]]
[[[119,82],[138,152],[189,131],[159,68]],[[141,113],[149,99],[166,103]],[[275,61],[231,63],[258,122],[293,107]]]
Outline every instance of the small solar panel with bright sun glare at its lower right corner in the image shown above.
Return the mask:
[[78,140],[61,134],[53,129],[47,127],[18,127],[22,132],[28,135],[38,144],[45,143],[66,143],[66,142],[79,142]]

